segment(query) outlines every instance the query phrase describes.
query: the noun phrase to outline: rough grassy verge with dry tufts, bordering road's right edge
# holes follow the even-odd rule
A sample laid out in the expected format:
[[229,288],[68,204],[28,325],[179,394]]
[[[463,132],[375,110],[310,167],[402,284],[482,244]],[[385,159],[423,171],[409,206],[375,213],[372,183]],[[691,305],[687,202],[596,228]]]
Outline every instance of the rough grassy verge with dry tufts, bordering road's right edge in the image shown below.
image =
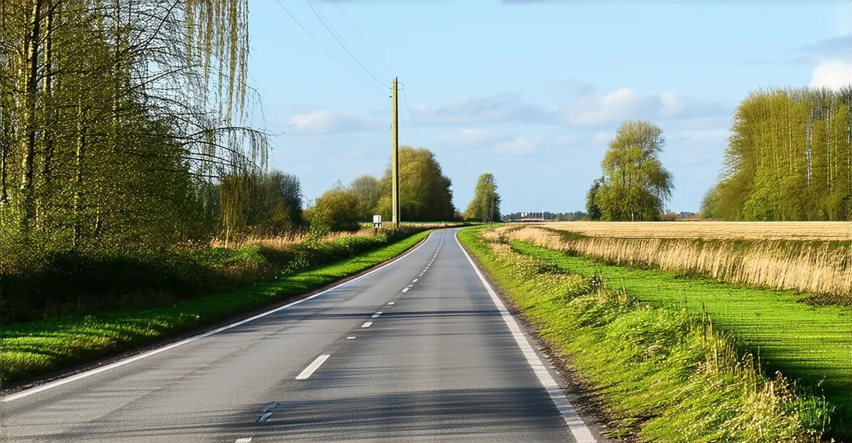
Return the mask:
[[[568,272],[553,256],[498,233],[459,238],[554,348],[601,395],[613,434],[650,441],[813,441],[826,405],[714,330],[712,316],[641,302],[599,274]],[[611,283],[617,283],[610,285]],[[614,286],[614,287],[613,287]],[[682,297],[682,294],[679,294]]]

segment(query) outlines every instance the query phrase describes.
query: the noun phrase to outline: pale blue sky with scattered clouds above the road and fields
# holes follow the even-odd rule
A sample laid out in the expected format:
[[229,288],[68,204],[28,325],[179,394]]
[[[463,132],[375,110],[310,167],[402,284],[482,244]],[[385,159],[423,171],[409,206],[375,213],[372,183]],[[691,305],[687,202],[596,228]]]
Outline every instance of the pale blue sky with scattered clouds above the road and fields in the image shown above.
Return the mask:
[[631,118],[664,129],[668,206],[698,210],[750,91],[852,80],[849,0],[281,2],[364,79],[279,3],[250,3],[252,84],[279,134],[269,167],[298,175],[308,198],[383,173],[394,76],[400,143],[435,152],[462,210],[492,172],[504,212],[583,210],[607,141]]

